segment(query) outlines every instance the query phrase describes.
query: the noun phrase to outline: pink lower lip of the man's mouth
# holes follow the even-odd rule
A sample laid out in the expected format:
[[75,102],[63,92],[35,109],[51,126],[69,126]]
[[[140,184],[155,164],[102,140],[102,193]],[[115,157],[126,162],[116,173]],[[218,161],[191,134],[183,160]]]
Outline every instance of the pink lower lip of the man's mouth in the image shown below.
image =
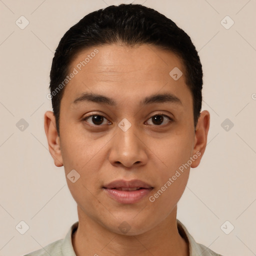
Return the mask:
[[122,191],[111,188],[104,188],[104,190],[110,197],[115,199],[117,202],[128,204],[138,202],[143,197],[148,195],[152,188],[142,188],[134,191]]

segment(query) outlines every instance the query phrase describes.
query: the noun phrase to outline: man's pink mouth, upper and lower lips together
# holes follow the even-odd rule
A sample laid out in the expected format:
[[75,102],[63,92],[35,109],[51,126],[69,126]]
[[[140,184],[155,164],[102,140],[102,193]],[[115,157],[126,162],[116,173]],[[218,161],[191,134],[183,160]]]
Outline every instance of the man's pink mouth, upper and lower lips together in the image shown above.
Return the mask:
[[[133,191],[123,191],[117,190],[115,188],[134,188],[140,187],[138,190]],[[116,200],[119,203],[123,204],[131,204],[140,201],[143,197],[148,195],[148,193],[153,189],[148,183],[139,180],[139,179],[132,179],[132,180],[114,180],[102,187],[104,191],[109,195],[111,198]]]

